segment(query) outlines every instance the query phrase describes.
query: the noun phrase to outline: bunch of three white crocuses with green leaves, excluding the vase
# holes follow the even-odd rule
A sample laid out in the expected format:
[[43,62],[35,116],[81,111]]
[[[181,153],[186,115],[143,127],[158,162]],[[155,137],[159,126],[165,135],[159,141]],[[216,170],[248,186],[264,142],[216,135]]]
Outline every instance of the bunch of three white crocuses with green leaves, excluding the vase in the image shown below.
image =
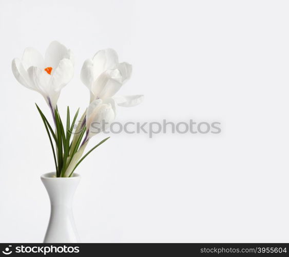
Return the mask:
[[16,80],[40,93],[50,108],[54,125],[36,104],[51,143],[56,177],[71,177],[85,157],[109,138],[83,155],[88,141],[103,130],[102,124],[114,120],[116,106],[134,106],[143,99],[142,95],[114,96],[129,80],[132,67],[126,62],[119,63],[118,54],[113,49],[100,50],[84,62],[81,70],[81,80],[90,91],[90,104],[76,126],[79,109],[70,117],[67,107],[67,116],[63,120],[57,108],[61,89],[72,79],[73,69],[71,50],[57,41],[50,43],[44,58],[34,48],[26,48],[22,59],[12,61]]

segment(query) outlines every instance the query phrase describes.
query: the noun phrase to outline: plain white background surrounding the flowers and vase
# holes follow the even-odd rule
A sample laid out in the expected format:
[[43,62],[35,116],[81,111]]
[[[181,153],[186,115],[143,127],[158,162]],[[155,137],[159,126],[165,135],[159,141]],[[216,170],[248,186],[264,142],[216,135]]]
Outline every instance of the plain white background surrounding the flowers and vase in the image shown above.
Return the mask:
[[[220,121],[219,135],[114,135],[78,168],[82,242],[288,242],[287,1],[0,1],[0,242],[42,242],[53,171],[11,61],[58,40],[75,54],[59,108],[85,109],[85,59],[114,48],[133,65],[117,121]],[[64,112],[63,112],[64,114]],[[90,146],[105,135],[94,137]]]

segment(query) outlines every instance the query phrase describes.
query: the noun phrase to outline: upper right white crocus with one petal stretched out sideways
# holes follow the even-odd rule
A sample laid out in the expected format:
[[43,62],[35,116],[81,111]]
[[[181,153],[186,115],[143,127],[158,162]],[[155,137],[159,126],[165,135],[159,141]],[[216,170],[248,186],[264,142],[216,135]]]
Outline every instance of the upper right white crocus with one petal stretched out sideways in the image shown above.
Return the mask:
[[90,90],[90,102],[111,98],[124,107],[141,103],[142,95],[114,96],[130,79],[131,71],[132,66],[129,63],[119,63],[118,54],[113,49],[100,50],[92,59],[87,59],[81,70],[81,80]]

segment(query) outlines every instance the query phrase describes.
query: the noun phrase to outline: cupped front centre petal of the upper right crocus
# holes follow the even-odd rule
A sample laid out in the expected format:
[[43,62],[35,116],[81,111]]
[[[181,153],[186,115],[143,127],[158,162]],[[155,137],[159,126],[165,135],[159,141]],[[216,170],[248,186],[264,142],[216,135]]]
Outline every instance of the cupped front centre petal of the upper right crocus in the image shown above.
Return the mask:
[[95,98],[112,97],[122,86],[122,76],[118,69],[107,70],[93,83],[91,91]]

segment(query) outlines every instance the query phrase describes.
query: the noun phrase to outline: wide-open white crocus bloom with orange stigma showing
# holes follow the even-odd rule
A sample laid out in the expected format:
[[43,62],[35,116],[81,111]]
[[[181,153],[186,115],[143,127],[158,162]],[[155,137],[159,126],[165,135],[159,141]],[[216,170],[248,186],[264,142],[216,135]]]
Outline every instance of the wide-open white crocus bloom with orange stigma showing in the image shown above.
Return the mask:
[[20,84],[40,93],[53,112],[61,89],[73,77],[73,65],[71,51],[53,41],[44,58],[36,49],[26,48],[22,59],[12,61],[12,71]]

